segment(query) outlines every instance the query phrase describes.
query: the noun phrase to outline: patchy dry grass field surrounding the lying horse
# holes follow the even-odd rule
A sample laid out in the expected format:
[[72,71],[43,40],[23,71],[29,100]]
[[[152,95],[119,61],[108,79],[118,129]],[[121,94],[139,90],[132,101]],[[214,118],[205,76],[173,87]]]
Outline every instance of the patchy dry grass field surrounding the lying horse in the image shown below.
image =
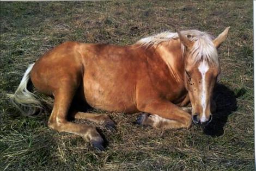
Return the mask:
[[[137,114],[109,113],[103,152],[81,137],[47,127],[48,113],[24,117],[7,93],[28,64],[62,42],[126,45],[174,27],[230,26],[219,49],[217,113],[205,129],[156,130]],[[253,2],[1,2],[1,170],[254,170]],[[90,124],[90,123],[89,123]]]

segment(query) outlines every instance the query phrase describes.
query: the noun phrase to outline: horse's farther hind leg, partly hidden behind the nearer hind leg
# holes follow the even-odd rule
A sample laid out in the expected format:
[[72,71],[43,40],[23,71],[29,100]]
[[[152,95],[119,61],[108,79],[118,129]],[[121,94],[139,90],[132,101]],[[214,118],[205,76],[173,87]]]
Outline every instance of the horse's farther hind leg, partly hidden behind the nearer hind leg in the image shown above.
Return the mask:
[[108,129],[115,129],[115,123],[107,114],[104,113],[73,112],[71,117],[74,119],[86,119],[88,121],[103,124]]

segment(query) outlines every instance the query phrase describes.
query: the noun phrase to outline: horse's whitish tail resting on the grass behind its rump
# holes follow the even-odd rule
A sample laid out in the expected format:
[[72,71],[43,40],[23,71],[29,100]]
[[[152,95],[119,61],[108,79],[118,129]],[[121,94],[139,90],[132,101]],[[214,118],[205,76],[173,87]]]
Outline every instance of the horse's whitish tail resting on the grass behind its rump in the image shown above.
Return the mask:
[[[35,63],[34,63],[35,64]],[[27,90],[27,84],[30,79],[29,73],[31,72],[34,64],[28,66],[21,83],[14,94],[8,94],[11,103],[21,111],[22,115],[33,115],[39,110],[42,112],[43,106],[41,102],[36,99],[37,96]]]

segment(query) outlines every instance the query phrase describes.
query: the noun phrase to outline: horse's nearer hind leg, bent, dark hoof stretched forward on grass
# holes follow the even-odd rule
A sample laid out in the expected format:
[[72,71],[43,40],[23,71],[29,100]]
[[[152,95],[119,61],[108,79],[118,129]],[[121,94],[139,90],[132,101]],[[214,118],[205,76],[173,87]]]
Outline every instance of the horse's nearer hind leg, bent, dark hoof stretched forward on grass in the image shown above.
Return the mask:
[[59,132],[69,132],[81,136],[84,140],[89,141],[92,145],[103,150],[103,139],[97,132],[95,126],[81,125],[67,121],[68,111],[74,97],[75,88],[72,86],[62,87],[54,92],[53,110],[48,121],[48,126]]

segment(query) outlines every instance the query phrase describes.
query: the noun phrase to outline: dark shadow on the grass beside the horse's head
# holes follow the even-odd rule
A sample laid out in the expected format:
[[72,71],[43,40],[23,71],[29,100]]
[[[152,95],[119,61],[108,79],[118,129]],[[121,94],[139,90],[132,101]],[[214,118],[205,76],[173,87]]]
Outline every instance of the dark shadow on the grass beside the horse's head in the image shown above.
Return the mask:
[[227,123],[228,116],[237,108],[236,98],[245,93],[241,89],[237,94],[222,84],[216,84],[214,88],[214,100],[217,105],[216,113],[213,113],[212,121],[204,127],[204,134],[210,136],[221,136],[224,133],[224,125]]

